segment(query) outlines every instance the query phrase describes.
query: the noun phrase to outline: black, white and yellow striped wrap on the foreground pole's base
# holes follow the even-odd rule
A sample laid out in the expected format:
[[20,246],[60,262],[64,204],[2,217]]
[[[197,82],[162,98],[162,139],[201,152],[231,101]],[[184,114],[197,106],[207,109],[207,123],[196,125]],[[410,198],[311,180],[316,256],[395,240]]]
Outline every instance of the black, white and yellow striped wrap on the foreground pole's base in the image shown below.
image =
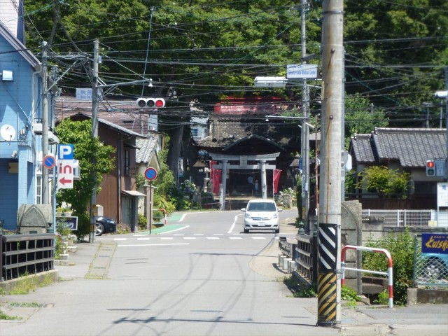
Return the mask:
[[337,225],[318,229],[317,324],[337,324]]

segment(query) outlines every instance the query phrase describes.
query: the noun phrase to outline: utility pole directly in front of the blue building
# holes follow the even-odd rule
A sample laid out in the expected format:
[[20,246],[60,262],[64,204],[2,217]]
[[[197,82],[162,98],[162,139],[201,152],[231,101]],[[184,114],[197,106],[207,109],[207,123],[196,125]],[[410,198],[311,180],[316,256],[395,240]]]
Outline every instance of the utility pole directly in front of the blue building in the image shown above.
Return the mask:
[[[48,58],[47,43],[42,48],[42,158],[48,155]],[[42,204],[50,203],[48,192],[48,169],[42,167]]]

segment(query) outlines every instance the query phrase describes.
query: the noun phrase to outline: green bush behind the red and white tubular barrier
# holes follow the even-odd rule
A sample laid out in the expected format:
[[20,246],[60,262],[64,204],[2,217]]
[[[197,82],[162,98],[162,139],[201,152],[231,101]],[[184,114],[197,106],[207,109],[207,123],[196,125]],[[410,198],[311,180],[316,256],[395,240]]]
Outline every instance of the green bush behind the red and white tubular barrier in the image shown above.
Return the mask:
[[[407,303],[407,288],[412,286],[414,269],[414,239],[409,230],[400,234],[388,234],[378,241],[367,241],[366,246],[385,248],[393,260],[393,301]],[[363,269],[386,272],[388,260],[383,253],[363,252]],[[372,276],[378,276],[371,274]]]

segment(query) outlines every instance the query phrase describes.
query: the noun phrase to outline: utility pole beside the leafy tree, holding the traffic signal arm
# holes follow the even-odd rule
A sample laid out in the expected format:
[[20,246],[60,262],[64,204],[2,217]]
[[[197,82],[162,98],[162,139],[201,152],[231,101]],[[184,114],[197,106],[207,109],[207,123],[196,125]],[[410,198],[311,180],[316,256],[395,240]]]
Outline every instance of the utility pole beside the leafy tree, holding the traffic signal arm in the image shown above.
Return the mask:
[[[94,48],[93,48],[93,73],[92,73],[92,134],[91,138],[96,139],[98,137],[98,101],[99,101],[99,92],[98,92],[98,64],[99,64],[99,41],[98,39],[94,40]],[[92,159],[93,161],[95,159]],[[96,167],[97,162],[92,162],[93,168],[90,172],[90,176],[93,180],[93,188],[92,188],[92,196],[90,197],[90,232],[89,232],[89,243],[94,242],[95,231],[96,228],[96,219],[97,215],[97,171],[94,167]],[[120,196],[120,195],[118,195]]]

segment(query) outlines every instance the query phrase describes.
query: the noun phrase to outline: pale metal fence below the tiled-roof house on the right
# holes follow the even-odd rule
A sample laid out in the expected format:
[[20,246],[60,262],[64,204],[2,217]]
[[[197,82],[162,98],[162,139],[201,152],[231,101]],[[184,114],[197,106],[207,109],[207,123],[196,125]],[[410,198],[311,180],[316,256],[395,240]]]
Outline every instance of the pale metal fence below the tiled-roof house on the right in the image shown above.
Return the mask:
[[363,210],[363,217],[384,218],[384,224],[395,226],[428,226],[431,210]]

